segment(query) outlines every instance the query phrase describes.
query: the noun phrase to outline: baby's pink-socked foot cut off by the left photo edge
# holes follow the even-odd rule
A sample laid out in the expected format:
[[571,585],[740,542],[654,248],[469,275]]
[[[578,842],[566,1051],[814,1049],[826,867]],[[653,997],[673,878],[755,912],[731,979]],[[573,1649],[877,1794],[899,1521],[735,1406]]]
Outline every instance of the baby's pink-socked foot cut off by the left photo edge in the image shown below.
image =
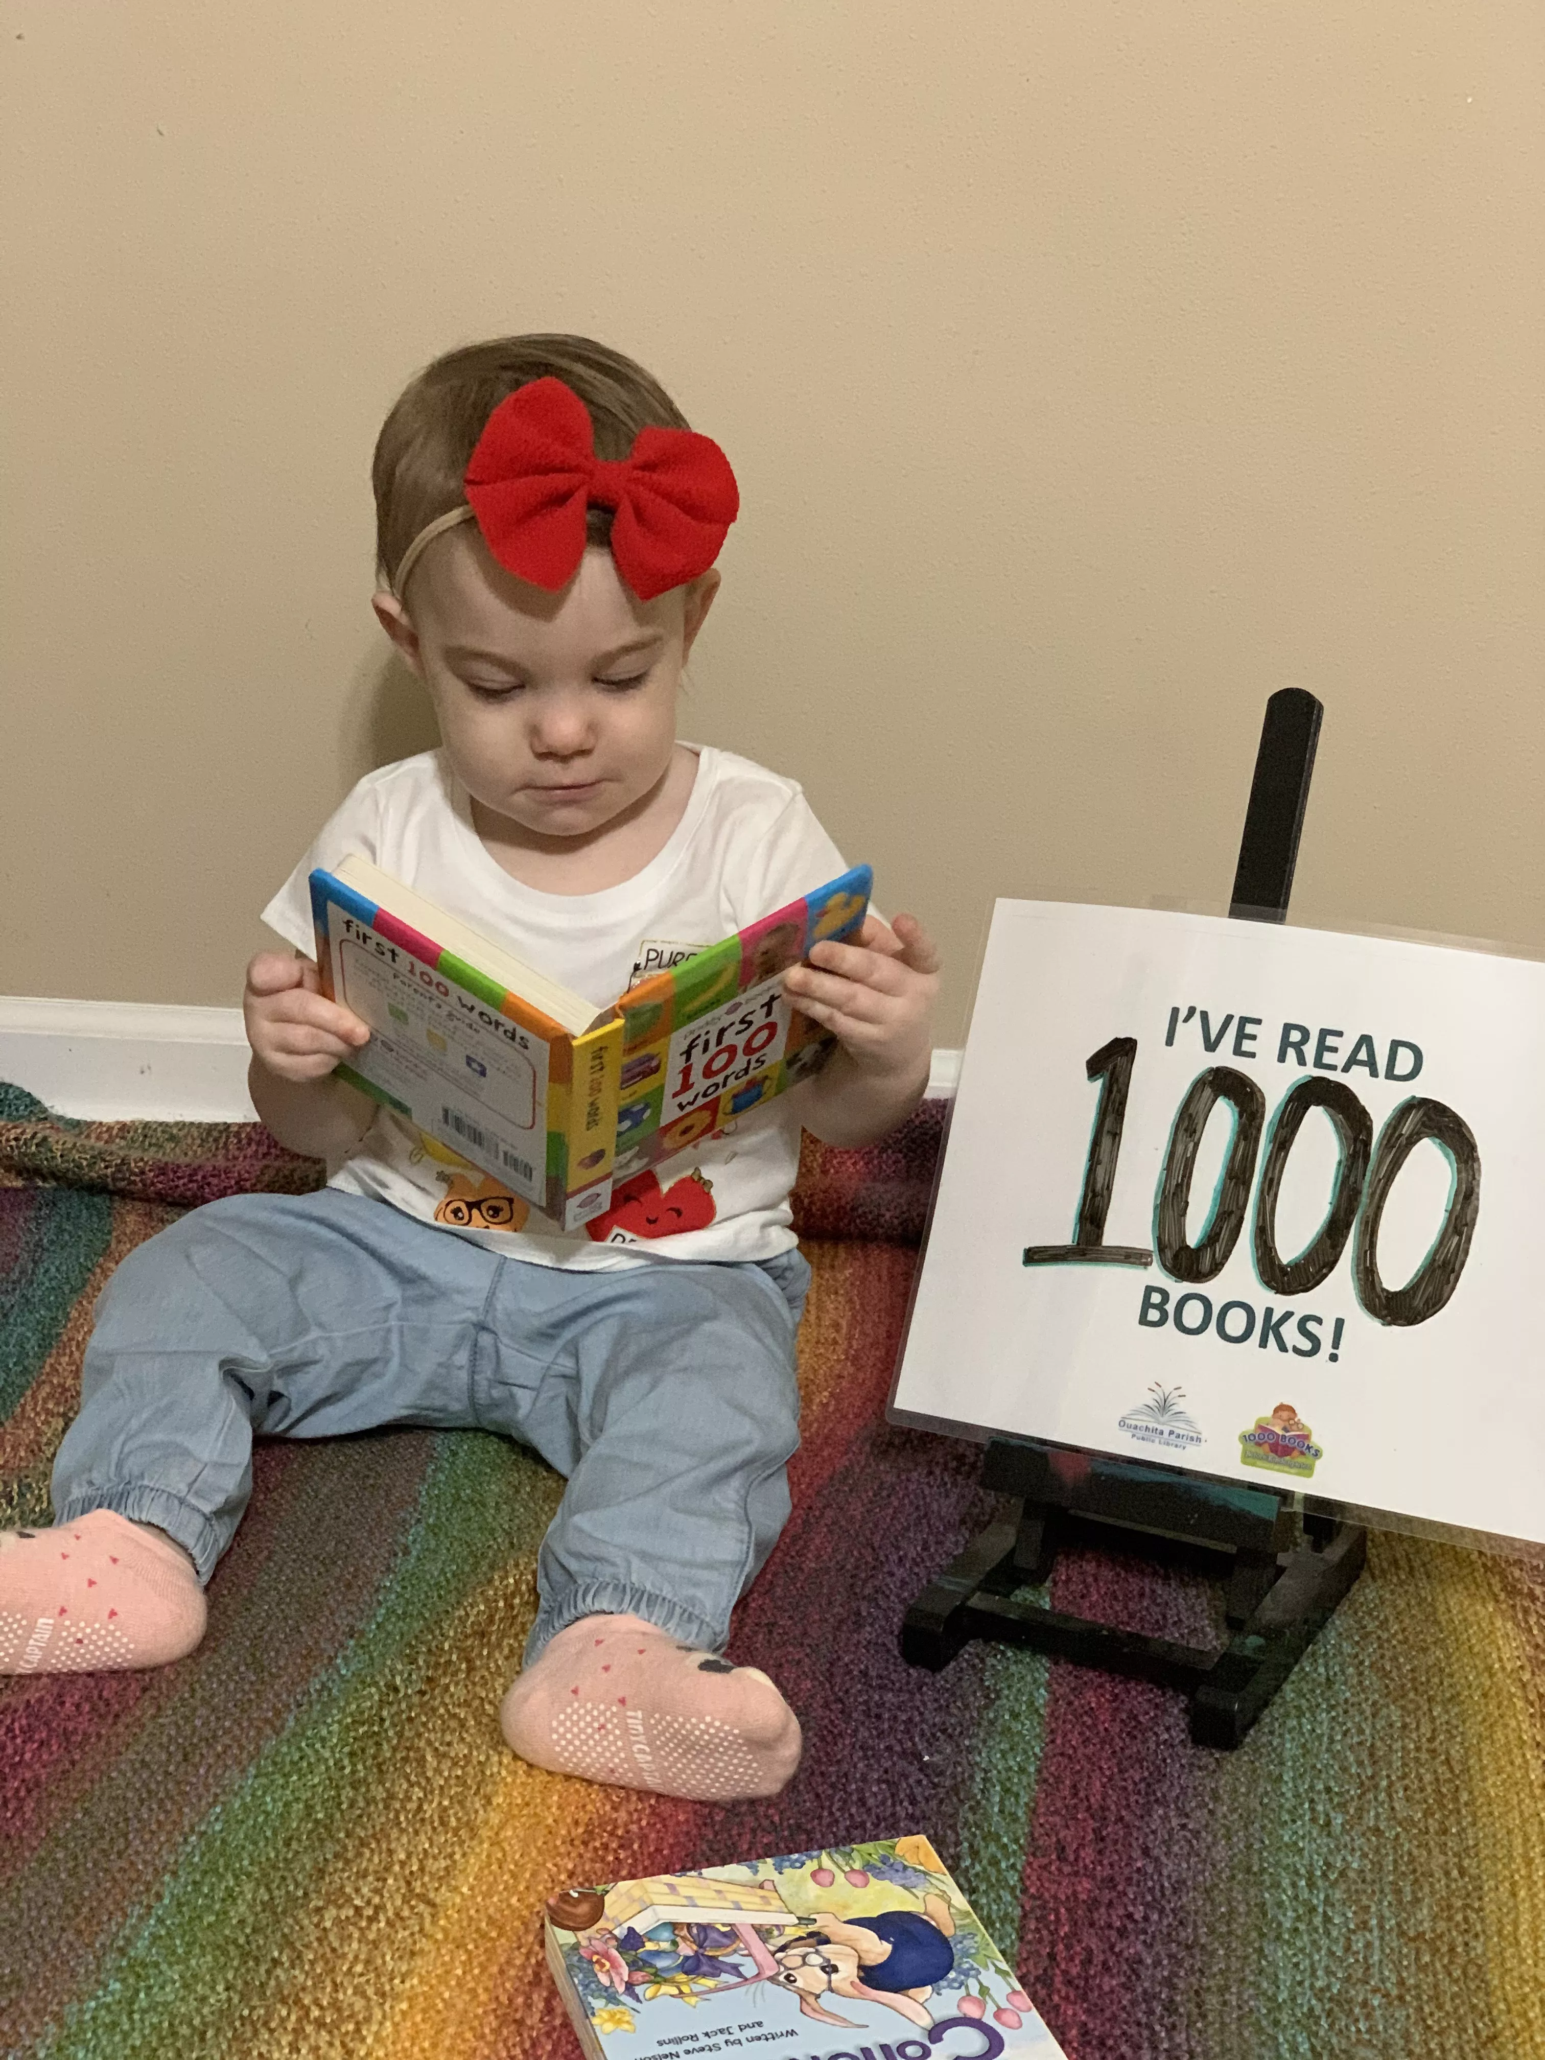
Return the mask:
[[206,1615],[187,1553],[113,1510],[0,1531],[0,1675],[161,1667],[194,1650]]

